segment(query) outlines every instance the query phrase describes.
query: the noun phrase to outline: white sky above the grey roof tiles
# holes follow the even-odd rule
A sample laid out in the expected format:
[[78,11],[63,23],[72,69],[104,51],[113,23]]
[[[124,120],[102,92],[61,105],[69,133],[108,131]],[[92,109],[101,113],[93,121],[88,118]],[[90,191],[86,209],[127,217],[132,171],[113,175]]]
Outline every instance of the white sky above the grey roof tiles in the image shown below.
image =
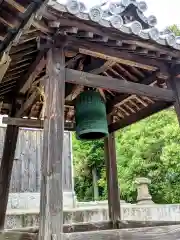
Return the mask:
[[[101,0],[84,0],[88,5],[96,5]],[[117,0],[112,0],[117,1]],[[180,25],[180,0],[145,0],[148,11],[145,15],[153,14],[158,20],[158,29],[162,30],[167,26]]]

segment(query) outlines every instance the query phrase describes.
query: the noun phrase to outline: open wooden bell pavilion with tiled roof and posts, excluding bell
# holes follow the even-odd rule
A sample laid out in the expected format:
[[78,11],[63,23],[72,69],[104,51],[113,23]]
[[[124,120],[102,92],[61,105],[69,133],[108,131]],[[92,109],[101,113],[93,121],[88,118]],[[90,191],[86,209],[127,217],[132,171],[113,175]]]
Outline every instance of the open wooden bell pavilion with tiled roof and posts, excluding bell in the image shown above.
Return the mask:
[[75,100],[87,87],[106,103],[109,218],[119,228],[114,132],[172,105],[180,119],[179,37],[160,32],[146,9],[136,0],[91,8],[78,0],[0,1],[0,113],[9,115],[0,228],[18,129],[44,128],[39,239],[63,239],[63,132],[74,130]]

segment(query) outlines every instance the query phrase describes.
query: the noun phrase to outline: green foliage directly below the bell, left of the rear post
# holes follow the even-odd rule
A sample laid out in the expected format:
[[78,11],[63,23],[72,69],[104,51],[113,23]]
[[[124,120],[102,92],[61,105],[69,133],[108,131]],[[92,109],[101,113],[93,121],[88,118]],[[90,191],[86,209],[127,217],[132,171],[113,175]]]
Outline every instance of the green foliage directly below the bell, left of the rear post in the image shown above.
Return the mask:
[[[92,169],[101,178],[104,168],[103,141],[78,141],[73,135],[73,156],[75,169],[75,191],[79,200],[93,200]],[[99,194],[103,189],[99,186]]]

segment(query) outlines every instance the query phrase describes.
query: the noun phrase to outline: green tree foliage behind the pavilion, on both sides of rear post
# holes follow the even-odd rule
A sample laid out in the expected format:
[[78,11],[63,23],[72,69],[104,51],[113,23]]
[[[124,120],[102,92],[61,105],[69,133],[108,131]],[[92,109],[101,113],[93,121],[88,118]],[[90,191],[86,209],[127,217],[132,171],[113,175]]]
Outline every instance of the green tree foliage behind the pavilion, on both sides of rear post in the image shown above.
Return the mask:
[[[170,29],[180,35],[176,25]],[[100,198],[107,198],[103,141],[81,142],[73,136],[75,190],[92,200],[92,168],[97,169]],[[116,133],[121,198],[136,201],[136,177],[148,177],[156,203],[180,202],[180,129],[174,109],[157,113]]]

